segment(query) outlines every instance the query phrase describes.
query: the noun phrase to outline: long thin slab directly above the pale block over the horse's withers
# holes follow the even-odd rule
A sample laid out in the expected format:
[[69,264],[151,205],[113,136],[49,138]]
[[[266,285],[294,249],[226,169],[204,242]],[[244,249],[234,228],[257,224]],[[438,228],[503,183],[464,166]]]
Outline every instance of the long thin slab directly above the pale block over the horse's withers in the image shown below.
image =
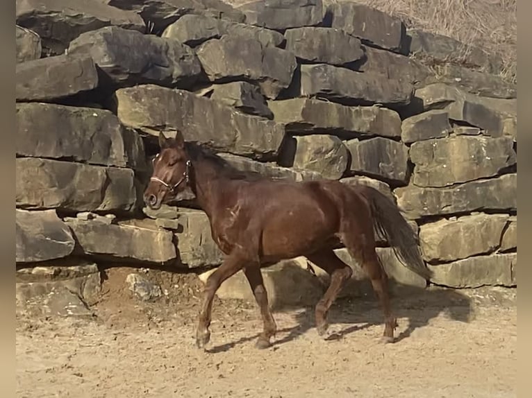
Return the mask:
[[263,47],[277,47],[285,41],[281,33],[266,28],[193,14],[183,15],[168,26],[162,37],[195,47],[207,40],[219,39],[223,35],[252,38],[258,40]]

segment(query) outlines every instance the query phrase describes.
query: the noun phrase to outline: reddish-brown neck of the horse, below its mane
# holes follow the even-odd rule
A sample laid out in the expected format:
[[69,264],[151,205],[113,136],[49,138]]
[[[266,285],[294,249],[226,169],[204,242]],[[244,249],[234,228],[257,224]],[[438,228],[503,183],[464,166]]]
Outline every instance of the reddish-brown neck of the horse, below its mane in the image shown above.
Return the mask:
[[224,178],[213,164],[206,159],[198,159],[192,162],[194,178],[191,189],[196,196],[197,203],[209,218],[213,216],[216,204],[223,195],[222,184]]

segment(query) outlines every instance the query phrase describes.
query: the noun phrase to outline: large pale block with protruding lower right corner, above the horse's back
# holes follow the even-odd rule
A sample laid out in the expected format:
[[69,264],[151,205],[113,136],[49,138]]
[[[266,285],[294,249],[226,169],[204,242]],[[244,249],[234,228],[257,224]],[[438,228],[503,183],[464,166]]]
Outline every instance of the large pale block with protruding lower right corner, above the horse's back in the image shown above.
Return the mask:
[[290,51],[233,35],[208,40],[196,53],[210,81],[256,81],[268,98],[276,98],[290,85],[297,67]]

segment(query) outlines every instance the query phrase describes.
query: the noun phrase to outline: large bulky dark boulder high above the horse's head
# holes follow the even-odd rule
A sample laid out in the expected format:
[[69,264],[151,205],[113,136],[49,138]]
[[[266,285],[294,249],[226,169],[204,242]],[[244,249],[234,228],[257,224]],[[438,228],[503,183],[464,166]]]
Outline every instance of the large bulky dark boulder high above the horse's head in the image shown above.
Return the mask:
[[109,82],[118,87],[154,83],[190,88],[201,75],[201,64],[189,46],[117,26],[79,35],[68,52],[90,54]]

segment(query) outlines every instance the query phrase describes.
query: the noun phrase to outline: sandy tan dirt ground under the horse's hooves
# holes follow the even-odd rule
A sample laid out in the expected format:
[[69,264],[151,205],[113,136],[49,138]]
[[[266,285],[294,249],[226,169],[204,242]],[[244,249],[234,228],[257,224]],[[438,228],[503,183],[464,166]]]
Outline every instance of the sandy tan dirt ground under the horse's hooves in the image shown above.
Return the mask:
[[215,300],[203,352],[197,277],[163,275],[167,295],[141,303],[126,272],[109,272],[92,317],[17,315],[17,397],[517,397],[516,290],[397,298],[391,345],[373,297],[333,306],[337,340],[317,336],[311,308],[278,312],[266,350],[254,303]]

